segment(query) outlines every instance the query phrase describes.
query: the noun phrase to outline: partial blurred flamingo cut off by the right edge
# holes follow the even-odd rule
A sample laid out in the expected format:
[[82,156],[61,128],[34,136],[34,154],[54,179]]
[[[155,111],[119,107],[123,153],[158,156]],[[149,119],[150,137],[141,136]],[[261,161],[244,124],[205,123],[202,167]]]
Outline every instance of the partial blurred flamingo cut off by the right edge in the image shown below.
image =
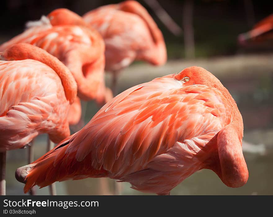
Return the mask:
[[258,22],[253,29],[246,33],[239,34],[238,41],[245,45],[249,42],[261,42],[265,40],[273,40],[273,14],[267,16]]

